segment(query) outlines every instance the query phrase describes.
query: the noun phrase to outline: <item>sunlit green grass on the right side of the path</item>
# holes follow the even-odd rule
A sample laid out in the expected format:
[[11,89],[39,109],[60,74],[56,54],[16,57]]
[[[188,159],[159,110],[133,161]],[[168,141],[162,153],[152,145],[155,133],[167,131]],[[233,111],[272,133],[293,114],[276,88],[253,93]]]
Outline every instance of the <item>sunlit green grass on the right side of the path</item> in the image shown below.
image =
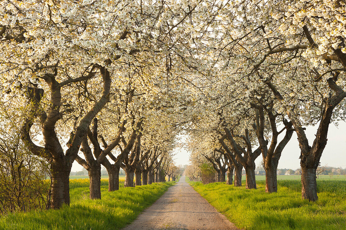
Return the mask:
[[[318,181],[318,201],[301,199],[300,181],[278,181],[278,192],[265,193],[225,183],[190,182],[193,188],[237,227],[245,229],[346,229],[345,181]],[[292,188],[290,188],[292,186]]]

